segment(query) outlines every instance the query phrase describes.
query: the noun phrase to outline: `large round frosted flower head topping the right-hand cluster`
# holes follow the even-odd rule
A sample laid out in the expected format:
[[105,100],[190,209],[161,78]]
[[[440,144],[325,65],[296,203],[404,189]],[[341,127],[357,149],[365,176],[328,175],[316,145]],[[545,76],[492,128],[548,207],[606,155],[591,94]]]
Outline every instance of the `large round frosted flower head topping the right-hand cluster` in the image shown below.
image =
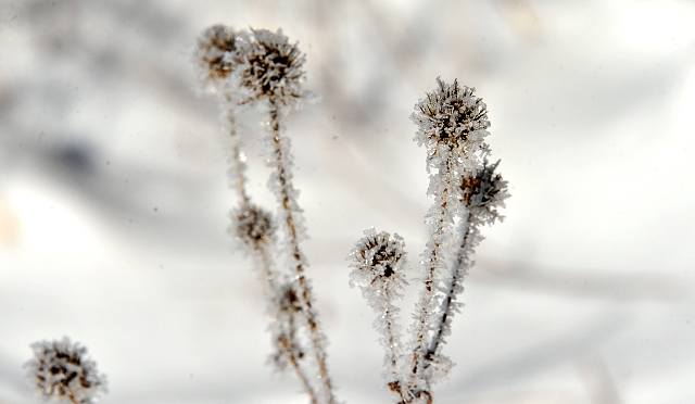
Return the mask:
[[438,167],[439,159],[456,157],[488,150],[483,142],[489,135],[488,108],[473,94],[475,88],[447,85],[439,77],[438,87],[415,104],[410,119],[418,126],[415,140],[428,149],[430,165]]

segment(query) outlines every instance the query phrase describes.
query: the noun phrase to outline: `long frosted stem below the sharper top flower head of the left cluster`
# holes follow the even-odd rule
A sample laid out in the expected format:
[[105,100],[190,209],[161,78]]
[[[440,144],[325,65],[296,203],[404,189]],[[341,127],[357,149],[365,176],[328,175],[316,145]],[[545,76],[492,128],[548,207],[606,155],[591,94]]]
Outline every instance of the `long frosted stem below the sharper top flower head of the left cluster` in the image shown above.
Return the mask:
[[328,376],[328,367],[326,366],[326,349],[324,341],[325,337],[320,330],[317,318],[318,315],[312,304],[313,298],[311,295],[311,290],[304,275],[305,263],[304,256],[300,249],[300,240],[298,233],[298,220],[300,220],[301,217],[299,209],[296,207],[296,201],[294,200],[294,187],[291,182],[291,166],[289,164],[290,156],[285,155],[286,153],[289,153],[289,150],[283,150],[283,139],[281,138],[280,132],[280,111],[279,106],[274,102],[270,102],[269,118],[270,134],[273,136],[274,144],[273,154],[275,156],[275,168],[277,175],[277,185],[273,188],[277,192],[277,197],[281,206],[281,216],[283,216],[282,219],[286,223],[288,231],[291,266],[293,267],[295,274],[296,282],[299,286],[300,300],[304,306],[304,318],[306,319],[309,338],[314,346],[316,365],[318,367],[318,379],[323,382],[326,400],[328,400],[327,402],[329,404],[332,404],[334,403],[333,388]]

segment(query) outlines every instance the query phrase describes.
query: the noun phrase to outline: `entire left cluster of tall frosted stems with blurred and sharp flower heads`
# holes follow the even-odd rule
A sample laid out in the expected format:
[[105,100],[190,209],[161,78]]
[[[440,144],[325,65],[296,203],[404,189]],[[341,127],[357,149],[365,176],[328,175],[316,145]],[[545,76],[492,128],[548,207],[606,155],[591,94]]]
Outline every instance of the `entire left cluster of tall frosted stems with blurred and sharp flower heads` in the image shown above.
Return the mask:
[[[305,56],[279,29],[247,33],[220,25],[203,33],[194,54],[203,84],[222,96],[229,125],[230,177],[240,195],[240,206],[230,215],[230,232],[256,256],[274,318],[274,363],[280,369],[288,365],[294,369],[312,403],[334,403],[326,365],[326,337],[305,275],[307,261],[301,248],[306,238],[304,218],[292,184],[290,139],[285,135],[287,114],[308,96],[302,89]],[[245,156],[235,128],[237,114],[247,105],[267,114],[264,154],[273,168],[268,187],[278,202],[275,218],[262,213],[247,191]],[[276,227],[279,231],[274,231]],[[274,253],[283,255],[285,270],[277,269],[278,254]]]

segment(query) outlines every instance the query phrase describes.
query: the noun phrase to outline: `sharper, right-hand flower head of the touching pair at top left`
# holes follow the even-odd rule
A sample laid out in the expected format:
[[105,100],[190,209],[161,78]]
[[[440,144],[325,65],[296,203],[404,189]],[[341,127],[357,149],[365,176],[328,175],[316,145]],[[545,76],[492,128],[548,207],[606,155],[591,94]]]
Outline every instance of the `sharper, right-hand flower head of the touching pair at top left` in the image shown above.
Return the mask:
[[296,43],[278,29],[253,31],[253,43],[245,55],[241,86],[249,92],[249,101],[268,100],[278,105],[294,103],[302,97],[305,55]]

